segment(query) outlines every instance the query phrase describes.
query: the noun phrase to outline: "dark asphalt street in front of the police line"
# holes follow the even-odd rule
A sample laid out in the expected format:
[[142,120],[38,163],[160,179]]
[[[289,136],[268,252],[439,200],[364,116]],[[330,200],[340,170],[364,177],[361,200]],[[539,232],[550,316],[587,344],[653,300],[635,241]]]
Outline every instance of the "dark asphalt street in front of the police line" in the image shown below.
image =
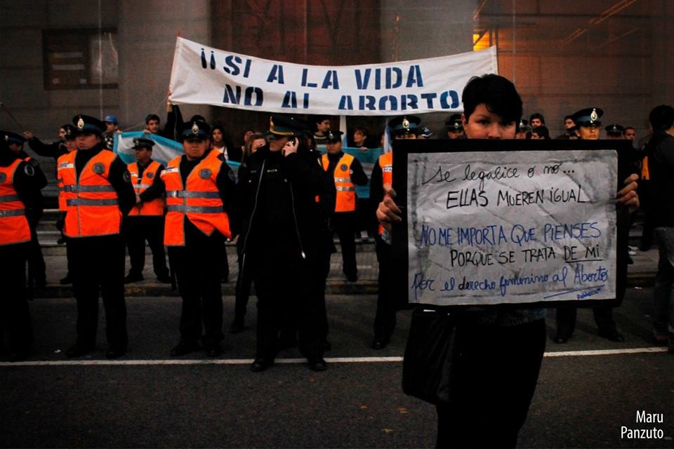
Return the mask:
[[[616,310],[624,343],[599,337],[590,310],[579,311],[567,344],[548,340],[520,448],[674,448],[674,355],[652,342],[651,295],[650,288],[629,288]],[[1,447],[435,445],[435,408],[400,387],[409,311],[399,313],[391,344],[374,351],[376,297],[329,295],[329,369],[314,373],[297,349],[285,349],[275,366],[251,373],[254,330],[227,333],[219,358],[171,358],[180,298],[129,297],[127,304],[129,351],[110,363],[102,310],[97,351],[72,361],[63,352],[75,336],[74,300],[31,302],[34,354],[25,363],[0,358]],[[253,298],[251,325],[254,304]],[[225,330],[233,307],[226,296]],[[554,310],[548,333],[554,333]],[[637,412],[662,422],[637,423]],[[622,427],[656,428],[662,436],[628,439]]]

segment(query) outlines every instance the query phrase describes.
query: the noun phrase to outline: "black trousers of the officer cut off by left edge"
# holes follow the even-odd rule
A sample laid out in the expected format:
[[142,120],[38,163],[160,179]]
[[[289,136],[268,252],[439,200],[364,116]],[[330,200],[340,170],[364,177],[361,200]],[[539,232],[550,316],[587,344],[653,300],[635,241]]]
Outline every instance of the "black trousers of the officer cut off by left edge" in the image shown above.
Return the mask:
[[29,243],[0,246],[0,345],[10,353],[27,354],[33,343],[26,291]]

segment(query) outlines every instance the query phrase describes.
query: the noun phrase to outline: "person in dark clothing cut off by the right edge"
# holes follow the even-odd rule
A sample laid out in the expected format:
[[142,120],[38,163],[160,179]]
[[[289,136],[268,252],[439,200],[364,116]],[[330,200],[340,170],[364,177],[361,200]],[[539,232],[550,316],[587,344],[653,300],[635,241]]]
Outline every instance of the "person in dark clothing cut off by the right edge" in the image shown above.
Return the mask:
[[659,105],[649,114],[653,137],[646,144],[654,195],[653,225],[660,250],[653,288],[653,336],[674,352],[674,107]]

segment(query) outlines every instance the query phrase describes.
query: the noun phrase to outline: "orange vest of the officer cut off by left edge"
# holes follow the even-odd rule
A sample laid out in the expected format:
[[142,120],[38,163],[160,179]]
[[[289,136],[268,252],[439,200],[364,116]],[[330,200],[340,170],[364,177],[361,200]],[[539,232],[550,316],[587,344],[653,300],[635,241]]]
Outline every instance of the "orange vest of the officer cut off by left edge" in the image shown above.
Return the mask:
[[14,188],[14,173],[20,163],[21,159],[16,159],[0,167],[0,245],[30,241],[25,205]]

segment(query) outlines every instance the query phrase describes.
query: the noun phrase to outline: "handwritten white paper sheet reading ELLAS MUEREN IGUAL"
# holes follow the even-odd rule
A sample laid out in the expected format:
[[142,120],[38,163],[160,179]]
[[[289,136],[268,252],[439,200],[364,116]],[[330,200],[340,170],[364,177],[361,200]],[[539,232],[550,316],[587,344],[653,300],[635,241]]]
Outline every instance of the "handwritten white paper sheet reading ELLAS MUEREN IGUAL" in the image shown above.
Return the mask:
[[614,150],[407,156],[410,302],[616,297]]

